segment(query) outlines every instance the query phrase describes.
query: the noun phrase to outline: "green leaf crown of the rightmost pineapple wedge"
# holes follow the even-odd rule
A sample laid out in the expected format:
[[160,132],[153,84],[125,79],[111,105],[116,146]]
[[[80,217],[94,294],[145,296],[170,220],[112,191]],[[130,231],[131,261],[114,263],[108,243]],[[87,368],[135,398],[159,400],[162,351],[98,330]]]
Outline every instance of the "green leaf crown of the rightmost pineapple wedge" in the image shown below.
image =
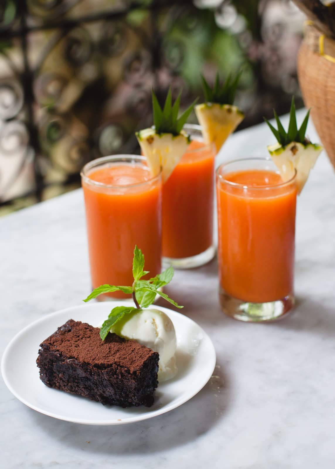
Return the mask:
[[279,120],[277,113],[274,110],[274,118],[277,122],[278,130],[274,128],[273,125],[264,117],[267,125],[270,127],[270,130],[274,134],[277,139],[277,142],[282,146],[286,146],[291,142],[297,142],[301,144],[306,144],[307,139],[305,137],[307,123],[309,118],[310,109],[308,110],[307,114],[305,115],[305,119],[301,124],[300,129],[297,128],[297,119],[296,119],[296,106],[294,104],[294,96],[292,96],[291,102],[291,110],[289,112],[289,129],[286,132],[282,126],[282,122]]

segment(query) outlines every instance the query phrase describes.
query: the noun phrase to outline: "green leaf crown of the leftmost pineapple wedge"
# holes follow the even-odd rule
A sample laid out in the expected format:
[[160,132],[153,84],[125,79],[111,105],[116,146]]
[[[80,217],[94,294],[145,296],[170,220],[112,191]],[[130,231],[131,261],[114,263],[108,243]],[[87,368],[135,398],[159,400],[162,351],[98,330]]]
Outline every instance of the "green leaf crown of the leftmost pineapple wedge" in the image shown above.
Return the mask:
[[183,129],[183,126],[192,112],[195,103],[198,101],[198,98],[178,119],[181,95],[182,91],[179,92],[174,105],[172,105],[172,93],[170,87],[162,109],[154,91],[152,90],[153,125],[155,126],[155,130],[158,134],[179,135],[180,131]]

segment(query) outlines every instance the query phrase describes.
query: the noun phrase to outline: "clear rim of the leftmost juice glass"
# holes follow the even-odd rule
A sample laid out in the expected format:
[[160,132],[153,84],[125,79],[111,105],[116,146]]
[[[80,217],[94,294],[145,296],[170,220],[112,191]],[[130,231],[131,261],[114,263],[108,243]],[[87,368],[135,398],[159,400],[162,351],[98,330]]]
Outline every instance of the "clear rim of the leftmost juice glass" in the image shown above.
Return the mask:
[[[147,179],[147,180],[141,181],[141,182],[135,182],[135,183],[132,183],[132,184],[122,184],[122,185],[121,184],[120,185],[105,184],[105,182],[94,181],[93,179],[91,179],[89,177],[89,175],[85,174],[85,172],[87,172],[90,169],[94,168],[94,166],[99,166],[99,164],[109,163],[109,162],[114,162],[114,161],[120,161],[120,162],[127,163],[129,161],[134,161],[134,160],[138,163],[144,163],[144,162],[147,163],[147,160],[146,160],[145,156],[141,156],[141,155],[118,154],[118,155],[102,156],[100,158],[92,159],[91,161],[86,163],[83,166],[82,170],[80,171],[80,176],[82,178],[82,181],[86,182],[87,184],[90,184],[91,186],[100,187],[100,188],[106,188],[106,189],[135,188],[135,187],[139,187],[143,184],[154,182],[154,181],[158,180],[161,177],[161,175],[162,175],[162,167],[161,166],[160,166],[159,173],[156,174],[155,176],[151,175],[150,179]],[[148,167],[148,170],[150,171],[149,166],[148,165],[146,165],[146,166]]]

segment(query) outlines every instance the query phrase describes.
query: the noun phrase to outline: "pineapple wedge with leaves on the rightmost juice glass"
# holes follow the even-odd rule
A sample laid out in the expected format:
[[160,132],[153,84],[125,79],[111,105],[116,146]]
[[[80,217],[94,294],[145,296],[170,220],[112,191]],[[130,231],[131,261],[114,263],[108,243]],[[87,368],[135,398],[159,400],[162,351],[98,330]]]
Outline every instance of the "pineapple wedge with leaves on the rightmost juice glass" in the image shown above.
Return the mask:
[[279,169],[284,182],[294,177],[297,171],[297,193],[300,194],[308,179],[312,167],[315,165],[323,147],[319,144],[312,144],[306,137],[307,122],[309,118],[307,112],[300,129],[297,129],[296,106],[294,97],[292,98],[291,110],[289,116],[289,129],[286,132],[282,126],[277,113],[274,111],[274,117],[277,122],[278,130],[275,129],[269,121],[266,121],[272,133],[277,139],[277,144],[268,145],[274,164]]

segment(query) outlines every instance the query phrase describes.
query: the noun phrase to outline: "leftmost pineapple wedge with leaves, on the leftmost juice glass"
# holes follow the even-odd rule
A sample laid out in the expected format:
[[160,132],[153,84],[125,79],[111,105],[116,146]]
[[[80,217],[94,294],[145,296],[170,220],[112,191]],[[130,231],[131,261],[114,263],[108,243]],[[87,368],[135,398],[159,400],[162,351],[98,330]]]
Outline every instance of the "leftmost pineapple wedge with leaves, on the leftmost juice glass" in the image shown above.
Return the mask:
[[195,102],[179,117],[181,93],[172,106],[171,88],[167,93],[164,108],[152,91],[153,127],[136,133],[138,143],[145,155],[153,176],[162,168],[162,179],[166,182],[190,144],[190,136],[183,131]]

